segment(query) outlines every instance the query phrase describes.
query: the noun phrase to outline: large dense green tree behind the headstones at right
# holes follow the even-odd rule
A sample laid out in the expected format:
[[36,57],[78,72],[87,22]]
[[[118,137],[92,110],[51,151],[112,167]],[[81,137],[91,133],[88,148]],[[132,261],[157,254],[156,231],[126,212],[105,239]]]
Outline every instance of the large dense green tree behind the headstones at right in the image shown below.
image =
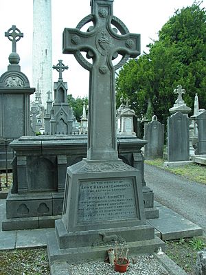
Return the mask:
[[117,107],[123,95],[130,98],[138,118],[146,115],[148,102],[165,123],[176,96],[177,85],[186,90],[183,99],[193,108],[198,94],[200,108],[206,107],[206,13],[199,3],[176,10],[150,43],[149,53],[130,59],[117,78]]

